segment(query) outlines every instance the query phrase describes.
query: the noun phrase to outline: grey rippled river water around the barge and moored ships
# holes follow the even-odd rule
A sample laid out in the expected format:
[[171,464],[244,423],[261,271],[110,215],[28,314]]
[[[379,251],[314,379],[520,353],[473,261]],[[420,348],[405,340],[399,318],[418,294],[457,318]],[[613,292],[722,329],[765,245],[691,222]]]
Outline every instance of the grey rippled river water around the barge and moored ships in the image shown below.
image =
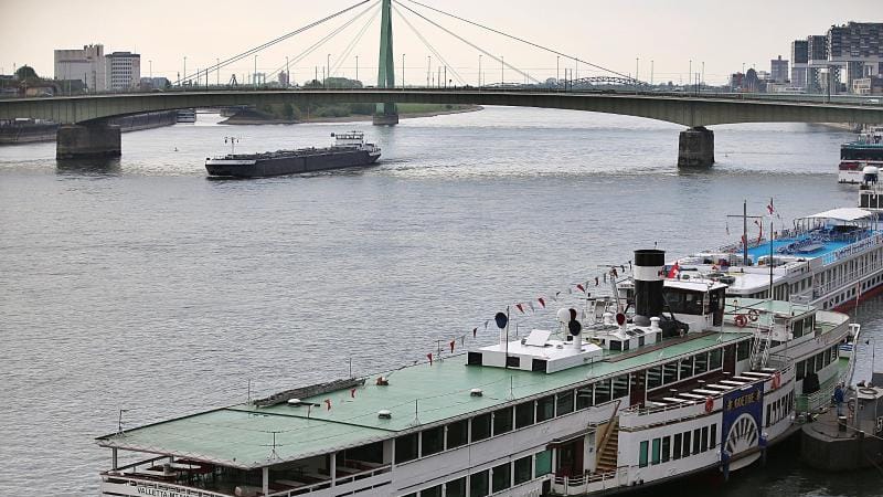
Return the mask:
[[[487,108],[403,120],[228,127],[215,115],[123,136],[109,163],[54,144],[0,148],[0,495],[97,495],[93,438],[264,393],[397,367],[507,304],[658,243],[737,240],[726,215],[853,205],[849,134],[717,126],[717,163],[677,169],[680,127]],[[206,156],[325,144],[363,129],[370,169],[205,178]],[[731,228],[731,235],[727,235]],[[883,304],[859,309],[883,336]],[[539,318],[551,320],[552,313]],[[471,340],[471,338],[470,338]],[[879,340],[883,346],[883,339]],[[469,345],[469,343],[467,343]],[[860,350],[859,374],[870,371]],[[883,350],[877,350],[883,358]],[[881,476],[818,475],[781,450],[720,495],[880,495]]]

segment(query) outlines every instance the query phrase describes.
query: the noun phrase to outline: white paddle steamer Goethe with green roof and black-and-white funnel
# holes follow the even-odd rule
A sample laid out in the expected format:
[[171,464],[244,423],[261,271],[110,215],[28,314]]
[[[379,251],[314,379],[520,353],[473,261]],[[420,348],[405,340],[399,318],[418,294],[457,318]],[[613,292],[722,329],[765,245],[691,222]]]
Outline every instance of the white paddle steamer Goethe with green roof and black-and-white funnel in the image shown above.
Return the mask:
[[512,340],[499,314],[499,342],[465,355],[102,436],[102,496],[599,495],[728,475],[841,374],[843,314],[726,299],[668,278],[658,250],[631,273],[632,299],[586,294],[554,329]]

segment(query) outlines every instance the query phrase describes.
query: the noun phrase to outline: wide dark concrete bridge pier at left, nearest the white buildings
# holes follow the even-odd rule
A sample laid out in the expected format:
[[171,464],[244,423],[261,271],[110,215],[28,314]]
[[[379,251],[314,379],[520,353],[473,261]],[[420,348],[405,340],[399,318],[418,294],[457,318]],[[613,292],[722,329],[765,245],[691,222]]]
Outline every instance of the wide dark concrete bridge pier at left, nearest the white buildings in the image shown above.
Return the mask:
[[119,126],[107,121],[62,125],[55,137],[56,159],[119,157],[123,154]]

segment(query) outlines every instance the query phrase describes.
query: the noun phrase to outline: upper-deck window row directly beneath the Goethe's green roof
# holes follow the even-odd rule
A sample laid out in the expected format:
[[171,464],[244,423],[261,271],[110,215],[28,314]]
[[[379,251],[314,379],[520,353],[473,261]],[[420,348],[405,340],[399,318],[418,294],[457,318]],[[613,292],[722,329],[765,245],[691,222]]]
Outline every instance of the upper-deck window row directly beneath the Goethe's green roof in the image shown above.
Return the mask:
[[[738,343],[737,357],[740,360],[748,358],[748,347],[749,340]],[[672,361],[651,368],[647,372],[648,388],[655,388],[650,387],[650,384],[658,382],[658,379],[664,380],[677,377],[677,381],[682,381],[692,376],[720,369],[723,360],[722,350],[719,348],[711,352],[698,353],[680,361]],[[696,363],[700,366],[696,366]],[[709,369],[710,366],[711,369]],[[669,376],[667,377],[667,374]],[[593,405],[605,404],[614,399],[628,396],[629,383],[630,374],[620,374],[575,390],[566,390],[522,402],[514,406],[498,409],[470,419],[400,436],[395,438],[395,464],[427,457],[469,443],[502,435],[513,430],[521,430],[553,417],[588,409]]]

